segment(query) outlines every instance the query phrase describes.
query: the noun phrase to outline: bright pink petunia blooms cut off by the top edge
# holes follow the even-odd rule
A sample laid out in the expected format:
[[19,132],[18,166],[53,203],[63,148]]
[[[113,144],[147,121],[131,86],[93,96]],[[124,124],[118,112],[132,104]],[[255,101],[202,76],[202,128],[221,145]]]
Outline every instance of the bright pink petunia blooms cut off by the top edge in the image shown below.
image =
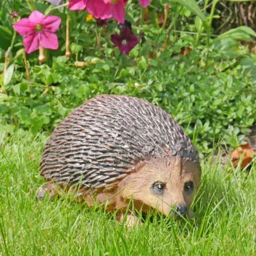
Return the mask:
[[[113,17],[120,23],[124,23],[124,17],[128,0],[70,0],[70,10],[84,10],[86,9],[89,14],[92,14],[94,18],[100,18],[106,20]],[[142,7],[148,6],[150,0],[139,0]]]

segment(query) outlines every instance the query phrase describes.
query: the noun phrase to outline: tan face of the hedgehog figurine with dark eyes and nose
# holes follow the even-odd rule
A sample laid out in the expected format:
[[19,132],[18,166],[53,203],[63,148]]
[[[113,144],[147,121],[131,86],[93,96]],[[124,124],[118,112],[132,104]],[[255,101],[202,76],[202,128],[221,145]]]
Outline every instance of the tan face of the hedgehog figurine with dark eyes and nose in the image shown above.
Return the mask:
[[166,216],[185,216],[200,178],[199,162],[170,156],[153,159],[126,180],[123,194],[142,210],[153,207]]

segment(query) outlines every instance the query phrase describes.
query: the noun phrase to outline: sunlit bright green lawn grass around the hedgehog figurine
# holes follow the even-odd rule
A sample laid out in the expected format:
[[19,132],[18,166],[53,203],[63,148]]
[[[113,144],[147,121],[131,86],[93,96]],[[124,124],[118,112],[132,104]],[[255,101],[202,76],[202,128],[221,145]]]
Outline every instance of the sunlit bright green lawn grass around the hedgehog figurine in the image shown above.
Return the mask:
[[153,216],[127,230],[113,215],[67,197],[36,200],[46,135],[0,128],[1,255],[255,255],[256,172],[227,174],[220,158],[202,161],[195,220]]

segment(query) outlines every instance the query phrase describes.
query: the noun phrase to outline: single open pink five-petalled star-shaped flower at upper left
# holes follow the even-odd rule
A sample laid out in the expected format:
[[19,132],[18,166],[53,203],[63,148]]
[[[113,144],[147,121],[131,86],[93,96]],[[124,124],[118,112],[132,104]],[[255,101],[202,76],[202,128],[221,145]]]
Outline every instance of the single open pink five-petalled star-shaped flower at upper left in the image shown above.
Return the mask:
[[44,16],[34,10],[28,18],[22,18],[14,24],[14,29],[24,37],[23,44],[28,54],[38,50],[40,46],[47,49],[58,49],[58,38],[55,32],[60,27],[61,18]]

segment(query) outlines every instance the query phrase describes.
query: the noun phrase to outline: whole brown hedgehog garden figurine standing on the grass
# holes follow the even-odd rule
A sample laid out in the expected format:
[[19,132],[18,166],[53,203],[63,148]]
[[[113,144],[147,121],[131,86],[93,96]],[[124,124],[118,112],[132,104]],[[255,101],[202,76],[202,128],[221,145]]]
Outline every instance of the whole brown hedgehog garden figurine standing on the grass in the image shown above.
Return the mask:
[[39,198],[76,189],[89,206],[118,210],[120,221],[132,200],[128,225],[137,211],[189,215],[201,180],[198,151],[177,122],[146,100],[121,95],[90,98],[63,119],[44,147],[40,174],[47,185]]

